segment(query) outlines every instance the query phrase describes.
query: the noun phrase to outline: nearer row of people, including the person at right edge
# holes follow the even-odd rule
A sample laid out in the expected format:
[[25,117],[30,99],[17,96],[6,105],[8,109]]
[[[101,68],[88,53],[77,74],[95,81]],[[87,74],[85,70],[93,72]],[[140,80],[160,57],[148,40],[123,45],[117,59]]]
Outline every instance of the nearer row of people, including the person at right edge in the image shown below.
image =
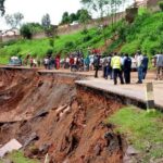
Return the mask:
[[[100,67],[101,55],[97,54],[95,57],[95,77],[98,77],[98,71]],[[136,54],[129,57],[127,53],[118,54],[111,53],[108,58],[103,60],[103,77],[114,80],[114,85],[117,84],[117,77],[120,78],[121,84],[130,84],[130,73],[133,60],[136,62],[136,70],[138,72],[137,84],[142,84],[142,80],[146,79],[148,67],[149,67],[149,58],[146,54],[142,54],[141,51],[137,51]],[[152,65],[156,67],[155,79],[163,79],[163,54],[155,54],[152,58]]]

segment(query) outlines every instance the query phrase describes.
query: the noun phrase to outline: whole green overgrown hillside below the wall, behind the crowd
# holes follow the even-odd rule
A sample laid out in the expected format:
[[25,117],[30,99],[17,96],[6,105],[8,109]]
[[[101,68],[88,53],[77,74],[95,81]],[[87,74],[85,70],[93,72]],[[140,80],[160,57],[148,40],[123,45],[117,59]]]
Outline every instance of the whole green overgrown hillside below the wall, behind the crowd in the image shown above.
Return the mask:
[[[114,37],[114,36],[117,37]],[[104,47],[104,38],[116,38],[108,41]],[[89,29],[88,33],[76,33],[73,35],[60,36],[54,40],[54,48],[50,47],[48,39],[18,40],[1,45],[0,63],[7,63],[9,57],[27,53],[43,58],[49,49],[53,53],[61,52],[62,57],[67,52],[82,49],[85,53],[87,48],[100,48],[104,52],[120,51],[134,53],[140,49],[148,55],[152,55],[163,50],[163,12],[146,12],[137,16],[133,24],[125,21],[116,23],[113,27],[105,27],[104,32],[100,28]]]

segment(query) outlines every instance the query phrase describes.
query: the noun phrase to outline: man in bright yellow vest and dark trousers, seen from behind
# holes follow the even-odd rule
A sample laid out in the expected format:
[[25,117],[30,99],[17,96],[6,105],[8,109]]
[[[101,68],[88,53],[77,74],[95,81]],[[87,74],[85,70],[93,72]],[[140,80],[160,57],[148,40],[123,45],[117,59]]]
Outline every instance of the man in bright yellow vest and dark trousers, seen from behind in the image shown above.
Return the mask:
[[117,84],[117,76],[120,77],[121,84],[124,84],[124,79],[122,76],[122,60],[121,57],[117,55],[117,53],[114,53],[114,57],[111,61],[111,66],[113,68],[113,78],[114,78],[114,85]]

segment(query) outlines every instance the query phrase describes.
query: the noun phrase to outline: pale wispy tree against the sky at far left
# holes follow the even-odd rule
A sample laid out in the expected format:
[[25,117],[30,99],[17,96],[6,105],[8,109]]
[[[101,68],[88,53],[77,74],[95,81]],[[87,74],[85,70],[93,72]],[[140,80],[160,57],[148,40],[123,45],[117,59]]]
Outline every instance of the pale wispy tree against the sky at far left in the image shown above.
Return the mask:
[[18,25],[21,25],[21,22],[24,18],[24,15],[17,12],[11,15],[7,14],[4,18],[8,25],[10,25],[12,28],[16,28]]

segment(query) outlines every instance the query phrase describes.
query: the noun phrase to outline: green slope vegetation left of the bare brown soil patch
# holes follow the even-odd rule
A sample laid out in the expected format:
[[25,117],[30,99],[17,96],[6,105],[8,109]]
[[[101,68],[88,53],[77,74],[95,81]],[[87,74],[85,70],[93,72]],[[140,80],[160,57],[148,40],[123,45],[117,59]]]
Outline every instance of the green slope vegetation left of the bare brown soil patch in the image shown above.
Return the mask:
[[[62,51],[62,54],[65,55],[67,52],[75,49],[87,49],[88,47],[100,47],[104,43],[102,41],[102,34],[98,35],[98,30],[92,28],[86,35],[79,33],[72,35],[63,35],[54,39],[53,53],[59,53]],[[89,40],[88,36],[91,38]],[[85,40],[85,41],[84,41]],[[86,41],[87,40],[87,41]],[[18,40],[18,41],[9,41],[1,45],[0,48],[0,63],[7,63],[11,55],[23,55],[27,53],[32,55],[37,55],[43,58],[49,49],[52,47],[49,43],[49,39],[33,39],[33,40]]]

